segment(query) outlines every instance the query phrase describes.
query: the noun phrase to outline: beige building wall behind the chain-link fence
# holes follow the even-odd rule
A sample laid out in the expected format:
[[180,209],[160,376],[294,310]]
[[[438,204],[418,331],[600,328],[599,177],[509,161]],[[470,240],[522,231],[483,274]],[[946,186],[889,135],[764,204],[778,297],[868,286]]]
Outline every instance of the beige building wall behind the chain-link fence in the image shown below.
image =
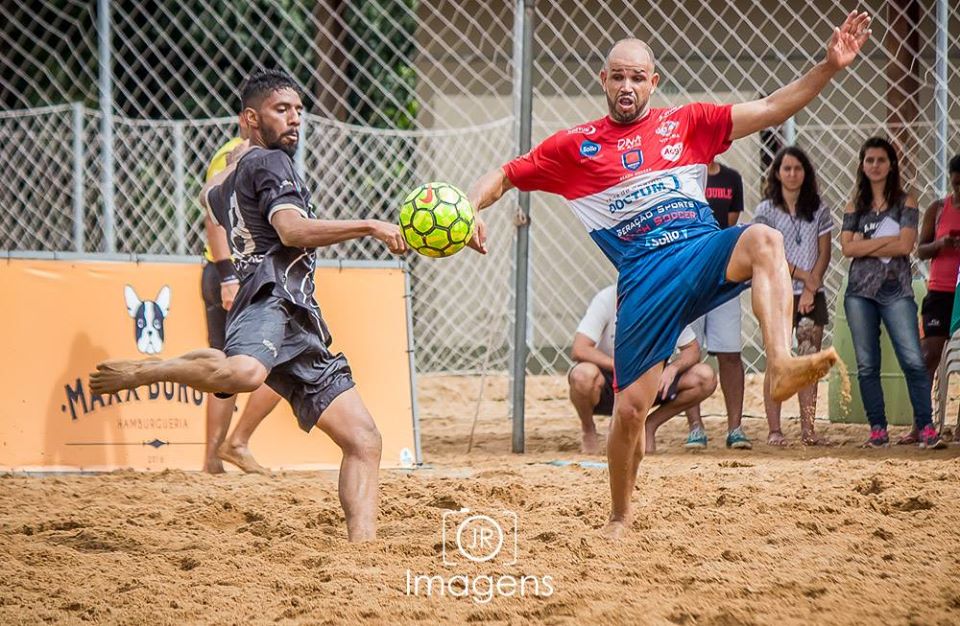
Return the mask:
[[[429,76],[429,82],[438,86],[437,91],[424,94],[435,112],[424,121],[434,128],[485,124],[510,118],[514,112],[513,3],[474,0],[459,4],[462,11],[451,14],[449,23],[424,25],[449,32],[449,36],[436,38],[444,46],[449,44],[449,48],[445,51],[437,46],[431,50],[433,61],[440,62],[420,68]],[[494,5],[499,8],[490,8]],[[872,134],[887,133],[888,53],[884,38],[890,35],[883,24],[885,2],[873,0],[861,5],[879,18],[865,58],[839,76],[795,119],[797,142],[810,153],[818,168],[822,195],[835,207],[838,224],[839,212],[852,187],[860,143]],[[694,100],[739,102],[772,92],[811,67],[823,56],[831,25],[842,21],[845,8],[829,0],[789,5],[756,0],[617,3],[616,7],[608,2],[541,0],[535,32],[533,141],[537,143],[560,128],[605,114],[597,73],[614,39],[632,34],[646,39],[654,48],[662,76],[654,106]],[[471,23],[471,16],[489,17],[491,13],[499,19],[487,19],[490,32],[478,37],[480,24]],[[960,33],[958,16],[960,11],[955,11],[951,23],[954,34]],[[651,24],[656,28],[650,28]],[[921,17],[920,41],[920,106],[918,122],[912,129],[914,147],[909,158],[917,165],[912,182],[926,203],[936,193],[936,181],[932,180],[931,124],[935,32],[929,11]],[[960,49],[956,35],[951,46],[950,145],[956,152],[960,151],[960,98],[955,95],[960,93]],[[465,66],[469,67],[469,76],[464,75]],[[461,87],[465,84],[474,91],[463,93]],[[515,149],[502,150],[505,142],[509,138],[464,146],[464,158],[470,159],[478,171],[486,171],[515,155]],[[759,138],[753,136],[735,142],[722,157],[723,162],[743,175],[746,219],[760,200],[764,173],[761,152]],[[448,169],[456,167],[451,164]],[[467,180],[460,182],[469,185]],[[512,212],[515,196],[501,205],[491,215]],[[502,220],[503,235],[509,235],[509,215],[498,219]],[[531,238],[533,343],[567,346],[590,297],[614,280],[614,271],[558,197],[534,194]],[[512,245],[512,237],[510,241]],[[839,254],[834,262],[840,263]],[[495,263],[497,273],[509,274],[512,250],[504,251]],[[482,271],[479,267],[474,270],[476,276],[481,276]],[[484,296],[474,297],[479,306],[479,299]],[[474,306],[466,308],[476,310]],[[750,322],[745,328],[752,332]],[[549,361],[553,357],[543,358]]]

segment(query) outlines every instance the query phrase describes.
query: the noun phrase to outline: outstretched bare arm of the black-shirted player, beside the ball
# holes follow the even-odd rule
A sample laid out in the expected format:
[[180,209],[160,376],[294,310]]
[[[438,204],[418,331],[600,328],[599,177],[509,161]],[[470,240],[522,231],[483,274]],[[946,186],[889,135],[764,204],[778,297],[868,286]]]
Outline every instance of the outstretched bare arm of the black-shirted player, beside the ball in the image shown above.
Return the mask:
[[322,248],[361,237],[374,237],[387,244],[390,252],[407,251],[407,242],[396,224],[380,220],[315,220],[299,211],[279,210],[270,218],[283,245],[292,248]]

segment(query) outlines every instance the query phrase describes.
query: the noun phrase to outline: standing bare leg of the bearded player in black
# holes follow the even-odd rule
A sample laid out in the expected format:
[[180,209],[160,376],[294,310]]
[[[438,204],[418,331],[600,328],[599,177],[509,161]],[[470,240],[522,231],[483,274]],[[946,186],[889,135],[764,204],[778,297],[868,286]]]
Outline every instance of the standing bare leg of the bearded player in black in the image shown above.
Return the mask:
[[340,462],[340,505],[347,518],[350,541],[370,541],[377,535],[377,472],[380,431],[356,387],[338,395],[317,420],[343,451]]

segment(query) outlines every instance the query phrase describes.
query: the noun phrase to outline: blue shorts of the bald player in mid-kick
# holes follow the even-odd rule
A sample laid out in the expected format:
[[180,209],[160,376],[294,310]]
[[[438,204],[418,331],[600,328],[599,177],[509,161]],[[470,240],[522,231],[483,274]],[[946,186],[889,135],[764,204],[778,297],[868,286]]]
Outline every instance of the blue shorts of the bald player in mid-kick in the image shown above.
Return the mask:
[[733,248],[748,227],[667,244],[621,265],[613,351],[617,391],[670,358],[687,324],[750,286],[726,277]]

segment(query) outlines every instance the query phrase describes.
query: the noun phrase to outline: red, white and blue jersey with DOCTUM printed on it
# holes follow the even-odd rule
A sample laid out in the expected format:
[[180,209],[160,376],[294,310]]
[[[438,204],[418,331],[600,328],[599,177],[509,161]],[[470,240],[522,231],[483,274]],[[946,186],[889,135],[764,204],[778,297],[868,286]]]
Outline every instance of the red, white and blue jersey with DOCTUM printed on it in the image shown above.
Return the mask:
[[717,230],[704,196],[707,164],[730,147],[731,105],[650,109],[632,124],[609,117],[548,137],[503,166],[522,191],[570,203],[604,254],[625,258]]

